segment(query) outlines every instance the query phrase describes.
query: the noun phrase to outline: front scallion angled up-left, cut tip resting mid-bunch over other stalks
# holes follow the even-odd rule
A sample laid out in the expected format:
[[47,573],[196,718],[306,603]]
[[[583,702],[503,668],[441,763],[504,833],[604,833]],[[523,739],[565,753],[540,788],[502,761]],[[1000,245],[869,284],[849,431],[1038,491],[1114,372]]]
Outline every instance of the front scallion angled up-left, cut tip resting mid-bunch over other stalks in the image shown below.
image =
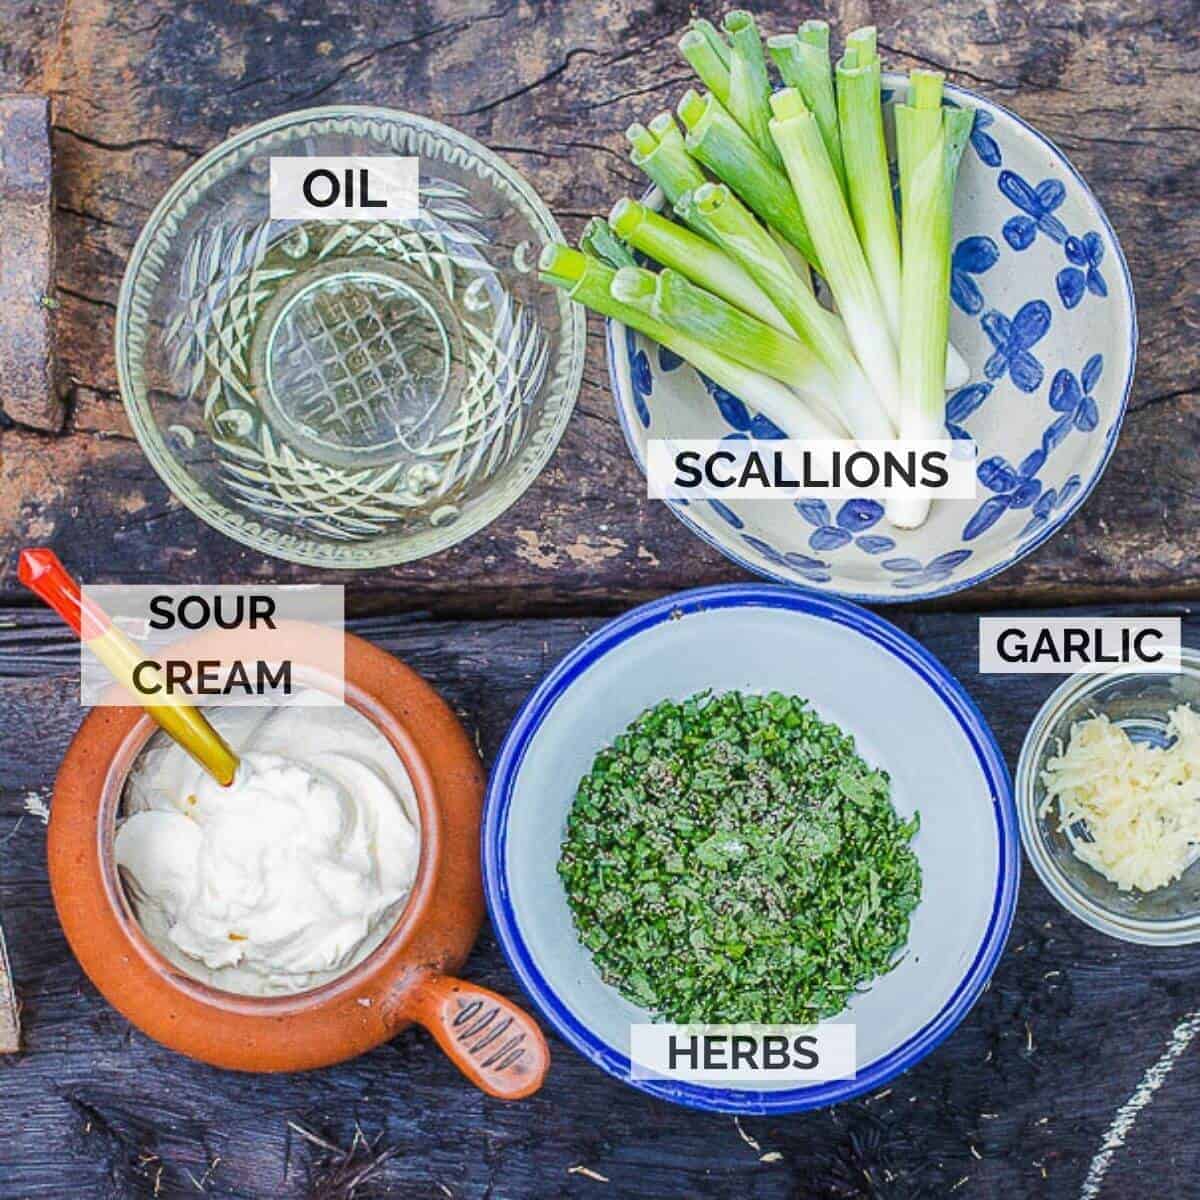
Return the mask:
[[859,440],[895,437],[888,414],[858,365],[845,326],[797,278],[784,252],[724,184],[706,184],[679,202],[702,232],[770,296],[792,331],[833,376],[838,415]]

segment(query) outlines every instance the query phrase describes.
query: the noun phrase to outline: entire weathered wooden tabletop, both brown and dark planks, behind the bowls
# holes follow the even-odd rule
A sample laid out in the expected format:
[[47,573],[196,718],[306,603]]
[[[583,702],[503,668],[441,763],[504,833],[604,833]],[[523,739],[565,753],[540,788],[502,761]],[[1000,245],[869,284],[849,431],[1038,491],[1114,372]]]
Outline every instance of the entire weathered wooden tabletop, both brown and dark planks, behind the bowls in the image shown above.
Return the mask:
[[[788,0],[758,11],[772,28],[815,14],[839,31],[874,20],[895,64],[944,66],[1015,109],[1070,155],[1129,258],[1140,365],[1103,485],[1026,563],[955,602],[1200,596],[1195,0]],[[125,260],[188,163],[289,109],[390,104],[492,145],[574,235],[641,186],[622,130],[684,86],[673,42],[689,12],[685,0],[0,0],[0,91],[54,100],[68,388],[56,434],[0,418],[0,599],[19,602],[14,551],[29,542],[53,544],[94,582],[314,577],[241,550],[173,502],[116,395]],[[359,612],[514,617],[392,617],[367,628],[452,700],[488,756],[536,679],[594,628],[593,614],[740,574],[642,498],[598,332],[563,444],[521,503],[448,554],[350,580]],[[515,619],[528,613],[578,616]],[[978,678],[973,614],[908,613],[901,624],[966,682],[1012,762],[1055,680]],[[1188,631],[1200,641],[1200,620],[1189,617]],[[108,1008],[55,920],[31,810],[48,799],[78,724],[76,689],[53,619],[0,611],[0,916],[28,1046],[0,1060],[5,1200],[1061,1200],[1080,1195],[1115,1110],[1198,1004],[1192,950],[1108,941],[1066,917],[1025,868],[1008,952],[958,1032],[863,1103],[743,1122],[758,1150],[732,1120],[649,1100],[558,1043],[546,1088],[514,1106],[473,1092],[418,1032],[308,1075],[211,1070]],[[486,930],[468,971],[515,994]],[[1116,1152],[1099,1200],[1195,1194],[1198,1088],[1193,1049]]]

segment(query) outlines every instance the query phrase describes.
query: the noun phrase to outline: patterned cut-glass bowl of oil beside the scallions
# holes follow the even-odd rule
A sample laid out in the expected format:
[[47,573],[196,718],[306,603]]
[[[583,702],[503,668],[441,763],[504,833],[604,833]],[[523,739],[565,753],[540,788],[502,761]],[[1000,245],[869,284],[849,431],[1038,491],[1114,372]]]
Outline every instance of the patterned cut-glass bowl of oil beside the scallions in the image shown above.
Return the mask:
[[[271,217],[272,157],[415,156],[403,221]],[[116,317],[121,396],[172,492],[265,553],[372,568],[437,553],[550,458],[581,311],[536,275],[562,240],[505,162],[408,113],[314,108],[210,151],[158,204]]]

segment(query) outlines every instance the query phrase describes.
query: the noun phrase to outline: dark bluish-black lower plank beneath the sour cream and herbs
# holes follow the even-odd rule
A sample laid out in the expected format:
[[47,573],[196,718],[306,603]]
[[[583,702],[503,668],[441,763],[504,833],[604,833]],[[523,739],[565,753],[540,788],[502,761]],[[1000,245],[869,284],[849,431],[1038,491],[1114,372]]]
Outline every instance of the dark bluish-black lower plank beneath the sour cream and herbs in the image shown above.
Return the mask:
[[[5,1200],[156,1188],[332,1200],[372,1157],[384,1160],[358,1195],[1074,1200],[1115,1110],[1200,1003],[1194,948],[1109,941],[1066,916],[1026,866],[1008,949],[948,1042],[862,1103],[745,1120],[742,1134],[730,1117],[616,1082],[557,1040],[545,1088],[516,1105],[473,1091],[415,1031],[305,1075],[212,1070],[131,1028],[59,931],[44,829],[26,811],[30,798],[48,798],[80,716],[72,650],[50,622],[0,611],[0,912],[28,1044],[0,1061]],[[491,758],[533,684],[595,624],[379,618],[359,628],[425,673]],[[907,614],[901,624],[962,679],[1013,763],[1057,680],[978,677],[973,616]],[[1186,630],[1200,643],[1200,617],[1189,614]],[[518,995],[487,931],[466,973]],[[1193,1049],[1140,1114],[1099,1200],[1195,1195],[1198,1092]],[[374,1151],[359,1145],[355,1165],[340,1169],[330,1147],[349,1150],[359,1129]],[[607,1182],[572,1174],[578,1166]]]

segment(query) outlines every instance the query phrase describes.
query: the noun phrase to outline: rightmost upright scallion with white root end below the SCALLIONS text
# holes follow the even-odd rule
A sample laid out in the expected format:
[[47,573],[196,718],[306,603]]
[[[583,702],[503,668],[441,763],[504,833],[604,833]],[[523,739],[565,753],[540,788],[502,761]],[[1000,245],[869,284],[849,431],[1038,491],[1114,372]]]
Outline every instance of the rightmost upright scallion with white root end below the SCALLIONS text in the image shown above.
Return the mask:
[[[942,107],[943,77],[913,71],[908,103],[898,104],[904,264],[900,281],[900,434],[946,438],[946,348],[950,328],[950,240],[954,182],[974,113]],[[929,499],[889,502],[888,518],[913,529]]]

